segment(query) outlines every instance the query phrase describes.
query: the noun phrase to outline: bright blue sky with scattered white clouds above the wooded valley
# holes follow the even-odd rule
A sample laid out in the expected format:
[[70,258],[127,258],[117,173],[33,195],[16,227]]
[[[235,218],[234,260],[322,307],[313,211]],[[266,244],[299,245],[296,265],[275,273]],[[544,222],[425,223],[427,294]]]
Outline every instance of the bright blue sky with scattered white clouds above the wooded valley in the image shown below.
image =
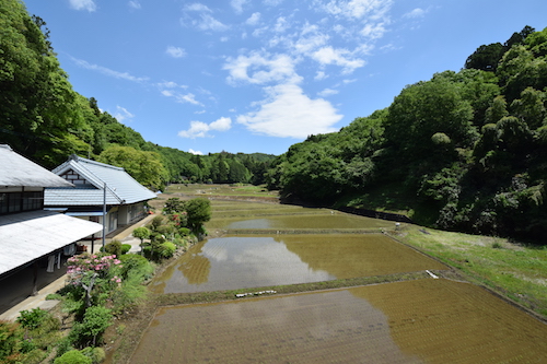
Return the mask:
[[73,89],[144,140],[281,154],[547,26],[545,0],[24,0]]

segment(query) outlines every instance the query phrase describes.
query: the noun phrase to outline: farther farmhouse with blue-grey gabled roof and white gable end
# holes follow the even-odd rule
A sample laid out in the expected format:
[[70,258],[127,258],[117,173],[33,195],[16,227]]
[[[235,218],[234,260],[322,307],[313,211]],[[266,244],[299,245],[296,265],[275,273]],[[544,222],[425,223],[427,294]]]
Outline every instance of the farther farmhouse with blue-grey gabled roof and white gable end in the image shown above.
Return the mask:
[[147,213],[146,202],[156,197],[124,168],[77,155],[53,173],[75,188],[48,187],[45,208],[101,224],[106,212],[106,234],[141,219]]

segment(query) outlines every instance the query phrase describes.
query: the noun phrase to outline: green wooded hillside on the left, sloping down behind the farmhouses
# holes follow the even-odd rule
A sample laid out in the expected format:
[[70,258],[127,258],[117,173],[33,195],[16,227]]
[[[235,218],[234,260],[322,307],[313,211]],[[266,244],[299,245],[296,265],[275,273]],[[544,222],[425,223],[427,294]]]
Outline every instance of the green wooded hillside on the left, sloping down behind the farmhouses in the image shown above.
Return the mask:
[[0,1],[0,143],[53,168],[70,154],[123,166],[150,188],[172,181],[261,183],[274,155],[193,155],[147,142],[72,90],[45,22]]

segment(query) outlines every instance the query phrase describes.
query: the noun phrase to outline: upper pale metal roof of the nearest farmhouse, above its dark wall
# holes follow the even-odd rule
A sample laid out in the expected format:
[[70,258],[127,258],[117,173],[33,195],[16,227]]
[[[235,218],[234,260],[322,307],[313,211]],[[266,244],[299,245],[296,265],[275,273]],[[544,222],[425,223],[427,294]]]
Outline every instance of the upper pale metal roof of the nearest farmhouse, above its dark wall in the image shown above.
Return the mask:
[[0,144],[0,186],[73,187],[73,185],[40,165]]

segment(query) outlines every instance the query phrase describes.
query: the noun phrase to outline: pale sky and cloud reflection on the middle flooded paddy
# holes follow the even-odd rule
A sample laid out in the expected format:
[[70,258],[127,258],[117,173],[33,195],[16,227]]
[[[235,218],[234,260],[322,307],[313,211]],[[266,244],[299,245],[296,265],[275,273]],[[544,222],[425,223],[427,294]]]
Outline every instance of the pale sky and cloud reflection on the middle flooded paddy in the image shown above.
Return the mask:
[[[311,269],[274,237],[212,238],[203,245],[199,255],[210,262],[208,277],[199,280],[202,283],[188,284],[178,266],[171,278],[165,278],[164,293],[235,290],[336,279],[328,272]],[[188,265],[185,271],[201,268],[191,267],[191,261],[185,265]]]

